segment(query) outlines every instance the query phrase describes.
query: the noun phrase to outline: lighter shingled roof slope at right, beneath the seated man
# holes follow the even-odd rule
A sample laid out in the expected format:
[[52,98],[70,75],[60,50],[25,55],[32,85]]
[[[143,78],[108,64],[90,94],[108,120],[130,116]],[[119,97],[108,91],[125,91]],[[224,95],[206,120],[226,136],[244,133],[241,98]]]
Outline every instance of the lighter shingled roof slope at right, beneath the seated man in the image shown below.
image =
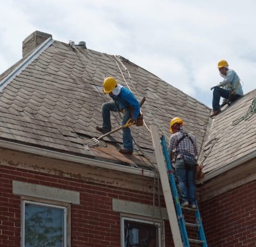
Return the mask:
[[256,150],[256,114],[232,126],[232,122],[248,111],[256,89],[224,107],[212,121],[201,153],[204,171],[212,171]]

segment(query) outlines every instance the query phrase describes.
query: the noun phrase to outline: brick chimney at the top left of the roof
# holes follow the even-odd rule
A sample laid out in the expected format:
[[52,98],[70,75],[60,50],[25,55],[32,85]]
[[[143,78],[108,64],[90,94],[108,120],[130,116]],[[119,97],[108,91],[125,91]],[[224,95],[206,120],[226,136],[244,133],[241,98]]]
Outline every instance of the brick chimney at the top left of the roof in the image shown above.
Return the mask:
[[22,42],[22,56],[30,53],[34,48],[38,47],[48,38],[52,38],[49,33],[43,33],[40,31],[34,31]]

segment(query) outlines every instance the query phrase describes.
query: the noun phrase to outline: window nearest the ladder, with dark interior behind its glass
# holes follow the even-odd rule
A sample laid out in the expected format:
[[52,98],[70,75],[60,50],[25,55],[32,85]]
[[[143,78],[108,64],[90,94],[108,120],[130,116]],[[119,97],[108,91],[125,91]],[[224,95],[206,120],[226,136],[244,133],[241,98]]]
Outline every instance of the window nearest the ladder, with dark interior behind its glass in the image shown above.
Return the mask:
[[150,221],[121,217],[121,242],[122,247],[161,247],[161,228]]

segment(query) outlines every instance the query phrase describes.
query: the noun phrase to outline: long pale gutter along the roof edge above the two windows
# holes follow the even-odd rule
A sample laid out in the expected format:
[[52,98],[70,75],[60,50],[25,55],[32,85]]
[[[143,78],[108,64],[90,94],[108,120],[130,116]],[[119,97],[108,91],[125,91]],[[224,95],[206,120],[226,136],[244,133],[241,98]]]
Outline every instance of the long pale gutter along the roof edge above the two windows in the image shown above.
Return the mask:
[[154,178],[153,171],[148,171],[148,170],[144,170],[141,168],[133,168],[130,166],[117,165],[115,163],[110,163],[110,162],[98,161],[96,159],[65,154],[63,152],[47,150],[44,148],[36,148],[36,147],[32,147],[32,146],[27,146],[25,144],[19,144],[19,143],[15,143],[15,142],[0,140],[0,147],[17,150],[17,151],[22,151],[22,152],[28,152],[28,153],[34,154],[34,155],[41,155],[41,156],[46,156],[46,157],[50,157],[50,158],[57,158],[57,159],[62,159],[64,161],[70,161],[70,162],[75,162],[75,163],[80,163],[80,164],[85,164],[85,165],[98,166],[100,168],[107,168],[107,169],[111,169],[111,170],[115,170],[115,171],[127,172],[127,173],[132,173],[134,175],[142,175],[145,177]]

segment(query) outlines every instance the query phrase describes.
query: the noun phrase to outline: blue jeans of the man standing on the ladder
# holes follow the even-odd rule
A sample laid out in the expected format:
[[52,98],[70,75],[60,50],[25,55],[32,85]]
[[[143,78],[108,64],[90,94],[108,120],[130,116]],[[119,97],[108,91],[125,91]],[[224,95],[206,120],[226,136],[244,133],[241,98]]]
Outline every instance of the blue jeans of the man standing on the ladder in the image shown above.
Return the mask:
[[184,159],[176,159],[175,173],[181,195],[181,204],[186,201],[189,202],[189,205],[196,204],[195,161],[185,156]]

